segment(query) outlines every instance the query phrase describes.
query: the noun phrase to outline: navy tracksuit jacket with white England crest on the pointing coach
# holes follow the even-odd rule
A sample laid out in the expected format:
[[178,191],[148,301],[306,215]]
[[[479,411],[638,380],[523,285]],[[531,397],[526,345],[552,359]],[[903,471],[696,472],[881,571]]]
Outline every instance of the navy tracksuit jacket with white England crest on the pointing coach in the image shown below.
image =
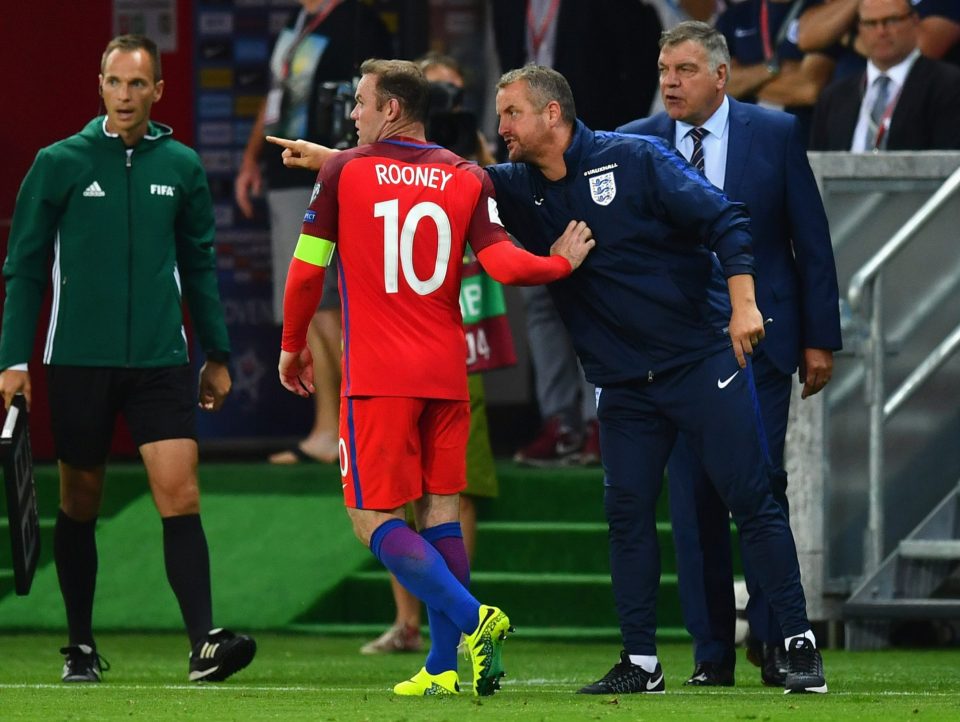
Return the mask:
[[564,160],[557,182],[525,163],[487,170],[504,225],[527,250],[549,254],[570,219],[597,239],[582,269],[549,287],[587,380],[647,378],[728,346],[724,272],[753,273],[745,207],[660,138],[578,121]]

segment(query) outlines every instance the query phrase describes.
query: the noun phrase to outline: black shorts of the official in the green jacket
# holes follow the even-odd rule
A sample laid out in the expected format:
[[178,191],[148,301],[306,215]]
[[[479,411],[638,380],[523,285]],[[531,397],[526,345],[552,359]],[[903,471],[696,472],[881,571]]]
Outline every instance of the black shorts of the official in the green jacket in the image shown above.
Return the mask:
[[53,443],[73,466],[106,462],[117,415],[138,447],[196,439],[197,382],[190,366],[47,366]]

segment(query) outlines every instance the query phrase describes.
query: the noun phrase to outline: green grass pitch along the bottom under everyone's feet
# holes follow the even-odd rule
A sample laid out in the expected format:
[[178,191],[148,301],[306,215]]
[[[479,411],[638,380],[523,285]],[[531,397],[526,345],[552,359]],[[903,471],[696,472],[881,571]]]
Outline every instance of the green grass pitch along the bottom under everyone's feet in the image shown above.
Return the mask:
[[[112,664],[100,685],[59,682],[60,635],[0,636],[0,720],[958,720],[960,651],[887,650],[824,654],[830,693],[784,696],[760,685],[743,658],[737,686],[682,686],[692,668],[685,644],[660,647],[665,695],[583,696],[576,689],[616,661],[611,644],[508,640],[508,677],[493,697],[398,698],[393,683],[421,655],[364,657],[364,640],[257,635],[257,658],[221,684],[187,682],[179,635],[103,634]],[[470,678],[469,662],[460,676]],[[469,692],[469,689],[467,690]]]

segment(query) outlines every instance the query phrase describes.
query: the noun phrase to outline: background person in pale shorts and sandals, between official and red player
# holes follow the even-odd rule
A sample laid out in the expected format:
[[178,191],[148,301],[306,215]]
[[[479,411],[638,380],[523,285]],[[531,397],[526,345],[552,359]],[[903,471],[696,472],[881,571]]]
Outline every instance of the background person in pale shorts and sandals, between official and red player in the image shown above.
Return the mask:
[[[342,118],[331,112],[342,98],[340,87],[346,86],[346,94],[352,95],[351,79],[365,58],[393,55],[386,27],[368,5],[357,0],[300,0],[300,5],[277,36],[270,58],[272,89],[264,98],[250,133],[234,189],[240,212],[253,218],[252,197],[266,185],[273,319],[277,325],[283,322],[287,265],[316,174],[285,169],[276,153],[261,158],[263,137],[272,133],[338,147],[344,134],[353,130],[353,124],[347,120],[349,109]],[[337,461],[341,341],[335,273],[328,276],[320,307],[310,325],[308,343],[317,381],[313,428],[290,449],[273,454],[271,463]]]

